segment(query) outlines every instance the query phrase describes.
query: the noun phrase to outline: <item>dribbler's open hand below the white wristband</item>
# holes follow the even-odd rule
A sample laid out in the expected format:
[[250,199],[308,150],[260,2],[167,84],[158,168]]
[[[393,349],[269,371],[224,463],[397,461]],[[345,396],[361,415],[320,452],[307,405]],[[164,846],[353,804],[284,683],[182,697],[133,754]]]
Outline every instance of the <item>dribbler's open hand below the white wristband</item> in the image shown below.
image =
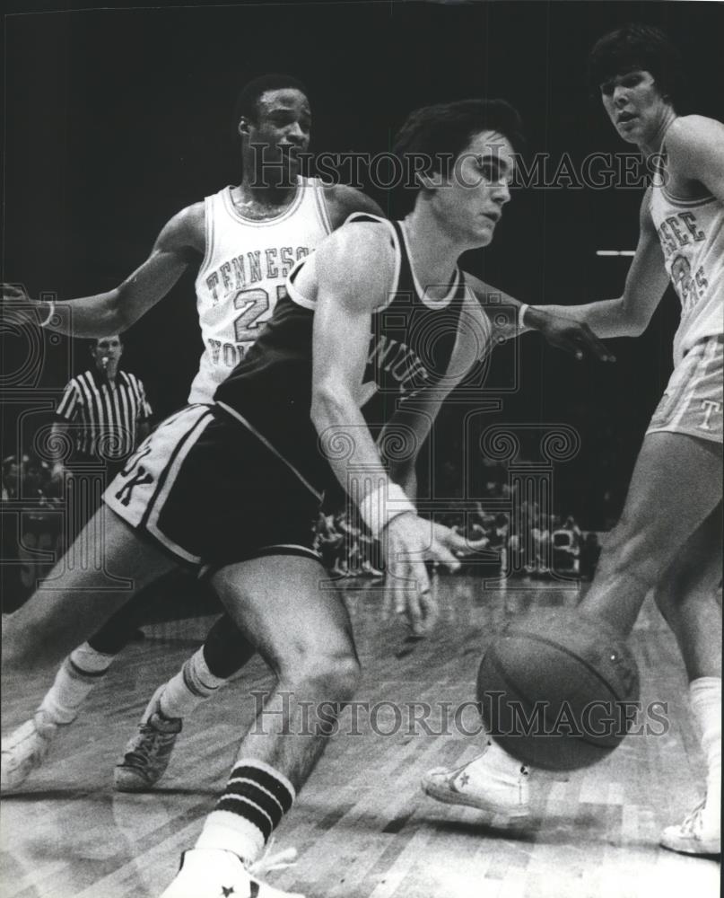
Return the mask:
[[393,517],[380,535],[387,563],[387,585],[397,612],[404,612],[414,636],[430,632],[438,604],[430,589],[425,561],[438,561],[451,570],[460,562],[456,551],[467,544],[458,533],[410,512]]

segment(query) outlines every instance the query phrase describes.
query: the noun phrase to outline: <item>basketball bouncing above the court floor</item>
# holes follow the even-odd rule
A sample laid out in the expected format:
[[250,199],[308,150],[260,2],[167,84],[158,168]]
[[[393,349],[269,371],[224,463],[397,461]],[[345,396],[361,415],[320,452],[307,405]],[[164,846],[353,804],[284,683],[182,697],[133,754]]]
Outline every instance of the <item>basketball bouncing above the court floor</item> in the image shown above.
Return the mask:
[[639,671],[624,638],[575,610],[510,621],[485,651],[477,699],[489,735],[547,770],[589,767],[635,723]]

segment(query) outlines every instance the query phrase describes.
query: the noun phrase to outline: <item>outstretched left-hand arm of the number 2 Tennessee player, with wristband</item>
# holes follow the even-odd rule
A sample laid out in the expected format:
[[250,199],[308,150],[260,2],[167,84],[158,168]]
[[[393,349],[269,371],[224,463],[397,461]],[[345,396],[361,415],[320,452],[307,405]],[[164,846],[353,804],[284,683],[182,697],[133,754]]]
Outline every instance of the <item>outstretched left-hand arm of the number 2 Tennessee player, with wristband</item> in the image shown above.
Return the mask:
[[4,285],[4,312],[74,337],[122,333],[169,292],[189,264],[201,260],[204,234],[204,204],[197,203],[164,225],[148,259],[112,290],[52,303],[34,302],[21,286]]

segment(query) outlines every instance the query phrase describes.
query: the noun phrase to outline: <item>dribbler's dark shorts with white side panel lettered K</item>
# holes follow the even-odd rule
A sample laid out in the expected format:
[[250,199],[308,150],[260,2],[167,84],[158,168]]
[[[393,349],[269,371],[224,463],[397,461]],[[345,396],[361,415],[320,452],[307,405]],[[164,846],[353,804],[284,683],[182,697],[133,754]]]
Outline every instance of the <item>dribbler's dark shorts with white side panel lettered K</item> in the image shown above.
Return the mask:
[[167,418],[106,489],[109,508],[175,559],[219,568],[312,548],[319,497],[213,405]]

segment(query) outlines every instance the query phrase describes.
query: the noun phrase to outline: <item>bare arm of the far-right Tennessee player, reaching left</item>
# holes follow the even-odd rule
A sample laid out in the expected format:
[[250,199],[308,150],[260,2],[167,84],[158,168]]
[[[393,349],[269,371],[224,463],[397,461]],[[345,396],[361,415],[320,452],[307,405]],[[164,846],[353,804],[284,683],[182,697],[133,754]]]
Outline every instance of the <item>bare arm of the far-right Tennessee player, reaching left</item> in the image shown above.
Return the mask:
[[629,269],[624,293],[586,305],[531,306],[526,321],[538,313],[559,315],[593,330],[598,337],[638,337],[668,286],[664,254],[650,213],[650,188],[641,202],[639,242]]

